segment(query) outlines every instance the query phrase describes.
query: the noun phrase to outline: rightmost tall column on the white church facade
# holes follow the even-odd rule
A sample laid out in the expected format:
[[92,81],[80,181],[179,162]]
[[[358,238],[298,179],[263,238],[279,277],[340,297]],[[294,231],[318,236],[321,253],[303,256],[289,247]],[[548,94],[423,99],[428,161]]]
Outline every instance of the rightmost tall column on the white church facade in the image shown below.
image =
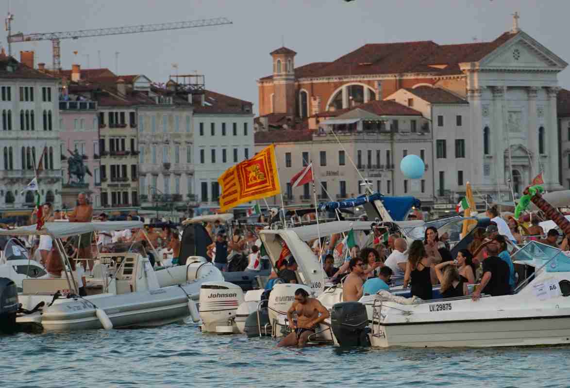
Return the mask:
[[548,97],[548,109],[546,110],[545,114],[548,115],[546,121],[545,129],[545,142],[546,142],[546,149],[548,151],[548,159],[544,163],[544,170],[545,175],[548,177],[548,181],[546,179],[545,183],[547,183],[547,187],[550,190],[555,189],[555,186],[559,186],[558,182],[558,119],[556,116],[556,96],[560,91],[559,87],[551,87],[547,88],[547,97]]

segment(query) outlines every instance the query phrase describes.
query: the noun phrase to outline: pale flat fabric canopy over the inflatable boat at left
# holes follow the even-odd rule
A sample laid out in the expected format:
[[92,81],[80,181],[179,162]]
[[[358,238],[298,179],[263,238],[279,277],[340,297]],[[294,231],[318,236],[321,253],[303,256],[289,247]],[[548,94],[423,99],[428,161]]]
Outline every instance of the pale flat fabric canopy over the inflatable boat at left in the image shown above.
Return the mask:
[[54,238],[76,236],[78,234],[143,227],[140,221],[105,221],[105,222],[46,222],[40,230],[36,224],[21,226],[15,229],[0,229],[2,236],[48,235]]

